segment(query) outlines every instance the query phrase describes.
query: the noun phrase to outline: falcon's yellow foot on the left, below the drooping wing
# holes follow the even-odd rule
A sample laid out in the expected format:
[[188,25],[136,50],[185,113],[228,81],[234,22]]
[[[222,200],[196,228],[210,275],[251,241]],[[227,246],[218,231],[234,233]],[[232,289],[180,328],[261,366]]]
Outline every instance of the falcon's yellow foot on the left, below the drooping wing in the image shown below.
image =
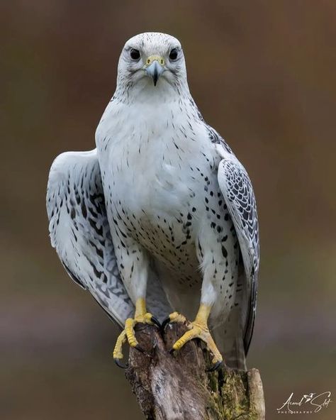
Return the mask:
[[116,365],[118,365],[119,367],[126,367],[121,363],[121,360],[123,359],[123,344],[125,344],[126,342],[128,342],[130,347],[134,347],[142,353],[145,353],[145,350],[143,350],[140,347],[138,340],[135,337],[134,327],[136,324],[155,324],[158,327],[160,327],[159,321],[157,321],[155,316],[152,316],[152,314],[146,312],[145,299],[142,298],[138,299],[138,301],[135,304],[134,318],[126,319],[125,328],[117,338],[116,346],[113,350],[113,359],[116,362]]

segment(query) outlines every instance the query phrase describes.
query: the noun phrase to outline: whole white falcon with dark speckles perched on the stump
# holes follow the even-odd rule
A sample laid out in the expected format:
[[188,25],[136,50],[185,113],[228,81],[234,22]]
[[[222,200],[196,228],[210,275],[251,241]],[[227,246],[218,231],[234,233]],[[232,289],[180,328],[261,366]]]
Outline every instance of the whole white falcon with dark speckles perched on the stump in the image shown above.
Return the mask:
[[259,267],[254,192],[191,97],[179,40],[128,40],[96,149],[55,159],[47,214],[70,277],[123,328],[118,365],[126,341],[139,348],[135,324],[170,313],[169,322],[194,319],[172,350],[201,338],[213,368],[222,355],[245,368]]

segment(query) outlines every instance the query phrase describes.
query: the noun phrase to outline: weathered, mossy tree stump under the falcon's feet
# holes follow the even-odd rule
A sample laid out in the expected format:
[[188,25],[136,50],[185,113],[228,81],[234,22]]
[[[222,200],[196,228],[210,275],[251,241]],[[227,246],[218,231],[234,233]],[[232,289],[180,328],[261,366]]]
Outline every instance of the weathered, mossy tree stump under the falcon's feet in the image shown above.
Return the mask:
[[194,340],[176,354],[172,345],[186,331],[169,324],[162,337],[155,326],[138,326],[147,353],[131,349],[125,375],[149,420],[263,420],[264,394],[259,371],[210,367],[208,352]]

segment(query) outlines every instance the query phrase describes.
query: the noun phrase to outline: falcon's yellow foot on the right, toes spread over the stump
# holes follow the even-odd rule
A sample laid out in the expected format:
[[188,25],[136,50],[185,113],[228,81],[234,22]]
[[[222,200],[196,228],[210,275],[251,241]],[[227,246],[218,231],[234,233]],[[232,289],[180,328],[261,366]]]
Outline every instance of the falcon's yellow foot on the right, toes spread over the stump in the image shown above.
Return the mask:
[[211,333],[208,329],[208,317],[210,315],[210,311],[211,305],[201,303],[196,318],[193,322],[186,321],[185,316],[179,314],[178,312],[173,312],[169,315],[167,321],[164,321],[164,324],[162,325],[164,326],[168,322],[186,322],[189,331],[186,331],[186,333],[184,333],[184,335],[181,336],[181,338],[179,338],[176,343],[174,343],[171,351],[179,350],[184,346],[185,343],[193,340],[194,338],[200,338],[202,341],[204,341],[204,343],[206,343],[208,350],[210,350],[213,355],[213,367],[211,367],[210,370],[215,370],[223,362],[223,357],[215,345],[215,341],[213,341]]

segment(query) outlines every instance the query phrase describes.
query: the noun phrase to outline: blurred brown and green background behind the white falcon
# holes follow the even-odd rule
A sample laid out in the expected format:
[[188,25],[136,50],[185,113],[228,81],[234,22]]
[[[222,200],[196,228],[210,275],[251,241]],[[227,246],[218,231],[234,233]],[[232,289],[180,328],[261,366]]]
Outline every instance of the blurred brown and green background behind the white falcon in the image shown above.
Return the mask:
[[[1,1],[1,420],[142,418],[116,328],[50,247],[45,188],[56,155],[94,148],[118,55],[144,31],[181,40],[196,103],[254,183],[249,365],[267,419],[291,392],[335,399],[335,15],[333,0]],[[308,417],[335,419],[336,402]]]

